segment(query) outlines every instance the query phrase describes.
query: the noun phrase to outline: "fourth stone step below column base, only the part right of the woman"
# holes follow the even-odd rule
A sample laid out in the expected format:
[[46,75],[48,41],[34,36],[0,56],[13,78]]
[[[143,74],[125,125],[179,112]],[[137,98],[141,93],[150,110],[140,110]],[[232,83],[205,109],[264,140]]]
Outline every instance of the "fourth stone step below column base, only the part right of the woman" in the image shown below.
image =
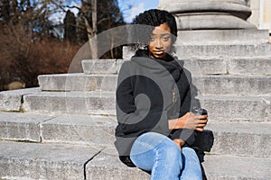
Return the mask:
[[270,121],[270,96],[199,97],[201,106],[209,111],[210,119],[219,121]]

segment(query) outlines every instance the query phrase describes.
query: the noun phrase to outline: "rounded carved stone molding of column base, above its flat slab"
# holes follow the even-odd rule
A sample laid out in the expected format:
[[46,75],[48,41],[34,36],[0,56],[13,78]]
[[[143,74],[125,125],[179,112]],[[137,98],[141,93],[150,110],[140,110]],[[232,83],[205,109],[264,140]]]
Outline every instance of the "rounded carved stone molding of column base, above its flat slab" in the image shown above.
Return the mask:
[[160,0],[158,8],[178,18],[179,30],[256,29],[245,0]]

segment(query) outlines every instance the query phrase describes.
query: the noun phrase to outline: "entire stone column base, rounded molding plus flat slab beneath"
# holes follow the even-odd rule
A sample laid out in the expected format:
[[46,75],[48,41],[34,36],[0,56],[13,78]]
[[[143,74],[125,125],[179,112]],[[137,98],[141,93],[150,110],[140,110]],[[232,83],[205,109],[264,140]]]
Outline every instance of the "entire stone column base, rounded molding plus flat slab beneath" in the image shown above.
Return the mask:
[[160,0],[158,9],[175,15],[178,42],[183,45],[261,44],[268,31],[259,31],[247,19],[245,0]]

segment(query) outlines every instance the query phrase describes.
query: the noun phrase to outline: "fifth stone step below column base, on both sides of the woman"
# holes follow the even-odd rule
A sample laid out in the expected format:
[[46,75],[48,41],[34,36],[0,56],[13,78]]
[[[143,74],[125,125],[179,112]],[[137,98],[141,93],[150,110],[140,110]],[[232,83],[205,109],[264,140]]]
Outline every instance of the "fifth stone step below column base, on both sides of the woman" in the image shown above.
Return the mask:
[[[0,139],[6,140],[114,146],[116,126],[114,116],[0,112]],[[270,128],[270,122],[210,120],[206,129],[215,137],[210,152],[271,157]]]

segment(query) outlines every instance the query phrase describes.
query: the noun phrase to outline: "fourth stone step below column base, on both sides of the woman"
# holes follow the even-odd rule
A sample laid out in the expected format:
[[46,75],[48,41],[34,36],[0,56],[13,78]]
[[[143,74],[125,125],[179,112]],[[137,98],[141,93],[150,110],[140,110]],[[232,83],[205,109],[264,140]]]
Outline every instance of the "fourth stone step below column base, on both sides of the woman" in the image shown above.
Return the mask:
[[[114,92],[42,92],[39,89],[23,89],[1,92],[0,97],[0,104],[10,104],[2,106],[0,111],[116,115]],[[268,95],[204,95],[198,98],[212,120],[270,121],[271,97]]]

